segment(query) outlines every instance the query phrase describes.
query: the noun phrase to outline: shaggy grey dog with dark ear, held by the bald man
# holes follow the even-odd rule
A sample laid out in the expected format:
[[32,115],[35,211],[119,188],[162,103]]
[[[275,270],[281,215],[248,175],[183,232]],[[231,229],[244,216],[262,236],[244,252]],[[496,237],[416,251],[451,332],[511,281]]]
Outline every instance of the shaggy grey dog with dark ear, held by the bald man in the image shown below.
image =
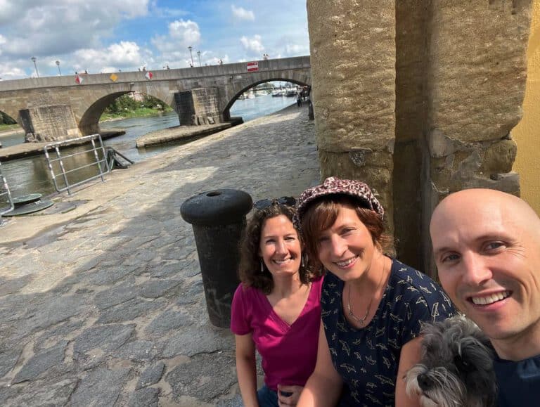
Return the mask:
[[422,359],[405,376],[423,407],[496,406],[494,350],[477,325],[454,316],[422,328]]

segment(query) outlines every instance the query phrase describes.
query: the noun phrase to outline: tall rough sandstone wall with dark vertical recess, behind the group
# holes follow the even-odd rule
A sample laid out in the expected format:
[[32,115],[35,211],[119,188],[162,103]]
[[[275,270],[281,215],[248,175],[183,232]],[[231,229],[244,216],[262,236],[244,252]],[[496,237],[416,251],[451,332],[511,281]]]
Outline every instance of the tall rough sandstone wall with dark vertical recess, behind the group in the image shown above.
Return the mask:
[[519,193],[510,130],[521,117],[530,8],[307,1],[321,177],[372,186],[398,257],[427,273],[441,198],[473,187]]

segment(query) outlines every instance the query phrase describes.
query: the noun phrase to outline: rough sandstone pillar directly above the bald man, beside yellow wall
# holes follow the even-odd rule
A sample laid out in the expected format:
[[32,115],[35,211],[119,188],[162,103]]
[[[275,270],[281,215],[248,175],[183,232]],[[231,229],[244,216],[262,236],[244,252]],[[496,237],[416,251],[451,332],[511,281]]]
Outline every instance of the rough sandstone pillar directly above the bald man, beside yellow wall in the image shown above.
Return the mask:
[[435,271],[428,227],[440,199],[463,188],[519,194],[510,130],[522,115],[531,1],[438,0],[428,13],[422,241]]

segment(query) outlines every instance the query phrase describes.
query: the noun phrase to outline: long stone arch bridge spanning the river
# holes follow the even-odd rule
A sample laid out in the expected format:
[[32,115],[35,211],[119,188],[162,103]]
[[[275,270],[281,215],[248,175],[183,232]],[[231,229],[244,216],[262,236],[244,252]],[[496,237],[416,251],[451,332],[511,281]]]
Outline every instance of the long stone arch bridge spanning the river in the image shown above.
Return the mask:
[[310,66],[309,56],[300,56],[151,72],[17,79],[0,82],[0,111],[37,141],[99,133],[103,110],[118,96],[134,91],[170,105],[182,125],[226,122],[234,101],[252,86],[270,81],[311,86]]

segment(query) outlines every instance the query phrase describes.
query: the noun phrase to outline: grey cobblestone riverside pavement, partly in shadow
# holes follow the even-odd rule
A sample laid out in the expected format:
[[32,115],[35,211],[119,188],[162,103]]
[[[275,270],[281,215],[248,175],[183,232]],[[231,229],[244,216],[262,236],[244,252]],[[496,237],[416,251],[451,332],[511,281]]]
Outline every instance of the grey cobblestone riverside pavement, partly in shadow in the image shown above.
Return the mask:
[[233,336],[208,321],[180,205],[215,188],[297,195],[318,180],[314,122],[294,106],[116,170],[56,213],[10,219],[0,405],[240,405]]

